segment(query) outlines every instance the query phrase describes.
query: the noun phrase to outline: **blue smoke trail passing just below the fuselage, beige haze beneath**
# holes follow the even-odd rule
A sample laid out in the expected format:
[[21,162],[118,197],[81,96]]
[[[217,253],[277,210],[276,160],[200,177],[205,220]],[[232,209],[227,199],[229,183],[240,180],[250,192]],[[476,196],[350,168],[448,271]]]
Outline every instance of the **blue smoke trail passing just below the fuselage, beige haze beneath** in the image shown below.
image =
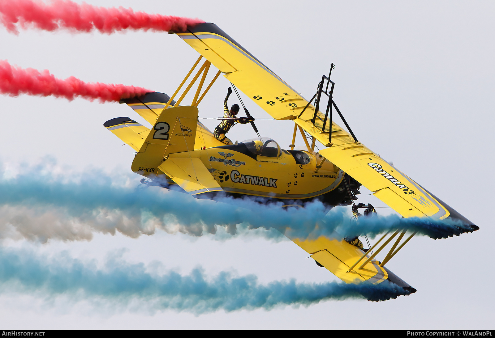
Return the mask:
[[[138,237],[152,234],[156,227],[166,230],[170,224],[179,224],[178,231],[193,236],[205,232],[214,234],[217,226],[224,226],[228,233],[235,235],[241,225],[241,229],[276,229],[290,238],[300,239],[322,235],[336,239],[374,236],[396,228],[442,238],[465,230],[458,224],[401,219],[396,215],[361,217],[359,222],[353,223],[344,208],[328,212],[319,201],[306,203],[304,208],[289,209],[282,209],[282,203],[262,205],[249,198],[221,198],[217,203],[164,192],[156,187],[137,190],[129,187],[129,182],[127,186],[122,184],[125,177],[120,179],[121,182],[117,182],[115,177],[96,170],[75,176],[56,176],[46,166],[29,169],[14,178],[3,175],[0,178],[0,238],[8,232],[5,224],[10,230],[14,227],[24,238],[40,242],[49,238],[90,240],[95,230],[112,234],[120,231]],[[2,214],[7,216],[2,219]],[[274,231],[261,234],[280,238]]]

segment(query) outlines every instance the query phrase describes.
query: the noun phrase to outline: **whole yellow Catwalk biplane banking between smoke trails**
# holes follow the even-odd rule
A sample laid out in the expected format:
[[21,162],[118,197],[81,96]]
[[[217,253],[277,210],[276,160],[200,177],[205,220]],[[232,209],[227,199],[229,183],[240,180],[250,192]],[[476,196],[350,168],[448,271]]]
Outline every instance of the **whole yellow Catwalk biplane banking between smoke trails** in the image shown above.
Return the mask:
[[[286,201],[288,205],[319,199],[329,206],[352,204],[355,214],[358,214],[357,207],[363,206],[354,204],[358,189],[363,185],[403,217],[450,218],[467,226],[464,232],[478,229],[357,140],[333,100],[331,70],[328,77],[322,77],[313,98],[306,100],[212,23],[198,24],[173,34],[200,54],[184,81],[171,96],[152,92],[121,101],[153,127],[148,129],[128,117],[104,123],[104,127],[137,152],[132,170],[146,177],[142,182],[175,188],[198,198],[213,198],[218,194],[250,195]],[[184,86],[202,58],[206,60]],[[218,72],[203,90],[211,65]],[[282,149],[267,137],[226,145],[198,121],[197,106],[220,74],[274,119],[294,121],[290,149]],[[181,106],[196,83],[198,87],[191,105]],[[179,95],[181,89],[183,92]],[[324,97],[326,105],[322,103]],[[334,110],[349,132],[332,121]],[[295,150],[297,132],[305,144]],[[323,144],[324,149],[316,152],[316,141]],[[374,211],[371,205],[365,207],[367,211]],[[342,241],[326,237],[291,239],[318,265],[347,283],[379,284],[389,280],[409,294],[416,290],[388,270],[385,263],[414,234],[408,234],[403,240],[405,230],[389,232],[368,250],[363,250],[356,238]],[[389,243],[391,249],[378,261],[376,254]]]

